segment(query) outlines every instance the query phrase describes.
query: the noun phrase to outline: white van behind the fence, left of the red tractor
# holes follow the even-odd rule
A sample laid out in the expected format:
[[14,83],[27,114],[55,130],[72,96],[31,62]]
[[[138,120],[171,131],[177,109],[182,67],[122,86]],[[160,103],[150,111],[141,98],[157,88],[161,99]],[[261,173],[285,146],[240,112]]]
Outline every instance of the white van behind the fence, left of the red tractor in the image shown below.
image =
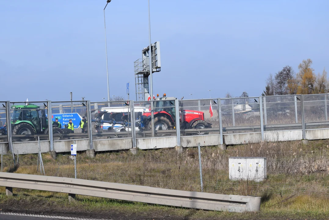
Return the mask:
[[[112,113],[116,113],[114,115],[114,120],[116,122],[122,122],[123,120],[121,119],[121,117],[123,115],[126,115],[128,114],[128,110],[129,110],[129,115],[130,115],[130,108],[127,107],[127,108],[123,108],[123,107],[103,107],[101,109],[101,111],[107,111],[107,113],[105,113],[103,116],[102,116],[102,119],[104,121],[111,121],[110,119],[110,114]],[[149,108],[146,108],[144,106],[135,106],[134,107],[134,111],[135,111],[135,121],[138,121],[139,120],[139,117],[144,113],[144,112],[150,112]],[[131,121],[131,119],[129,119],[129,121]],[[112,127],[113,124],[110,124],[110,123],[103,123],[103,125],[101,126],[103,130],[108,130],[109,127]],[[122,125],[120,124],[116,124],[113,126],[114,130],[116,128],[119,128],[121,127]],[[118,130],[120,131],[120,130]],[[126,131],[128,131],[128,128],[126,128]],[[129,128],[129,131],[131,131],[131,128]],[[136,127],[136,131],[139,131],[139,129]]]

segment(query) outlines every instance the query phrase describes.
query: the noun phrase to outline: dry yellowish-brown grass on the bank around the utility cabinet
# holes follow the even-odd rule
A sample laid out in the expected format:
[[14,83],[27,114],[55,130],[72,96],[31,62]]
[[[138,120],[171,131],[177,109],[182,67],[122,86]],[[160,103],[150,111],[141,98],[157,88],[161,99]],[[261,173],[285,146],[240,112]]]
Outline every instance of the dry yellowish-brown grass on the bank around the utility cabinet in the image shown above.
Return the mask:
[[[202,147],[202,169],[205,192],[219,194],[255,195],[263,198],[262,212],[275,215],[300,214],[316,216],[328,213],[329,208],[329,148],[328,141],[310,141],[303,145],[299,141],[245,144],[230,146],[226,151],[217,147]],[[266,157],[267,179],[263,182],[231,181],[228,178],[229,157]],[[74,177],[74,163],[70,155],[60,154],[53,160],[49,154],[42,154],[46,175]],[[37,172],[37,155],[19,156],[19,166],[13,169],[12,157],[4,156],[4,171],[27,174]],[[77,176],[80,179],[115,183],[147,185],[153,187],[200,191],[199,163],[196,148],[184,149],[178,154],[174,149],[102,152],[95,158],[85,153],[77,156]],[[2,189],[3,192],[4,189]],[[38,194],[57,202],[66,198],[63,194],[19,189],[22,196]],[[126,205],[116,201],[80,196],[80,202],[106,208],[104,201],[122,209]],[[115,204],[115,205],[114,205]],[[129,203],[131,210],[149,209],[138,203]],[[130,206],[129,205],[129,206]],[[151,206],[151,210],[170,210],[176,215],[185,215],[187,210],[173,211],[168,207]],[[126,210],[126,209],[125,209]],[[231,214],[196,211],[204,218],[240,218]],[[190,218],[196,218],[194,212]],[[194,217],[193,217],[194,216]],[[249,216],[250,217],[250,216]],[[262,218],[262,217],[260,217]]]

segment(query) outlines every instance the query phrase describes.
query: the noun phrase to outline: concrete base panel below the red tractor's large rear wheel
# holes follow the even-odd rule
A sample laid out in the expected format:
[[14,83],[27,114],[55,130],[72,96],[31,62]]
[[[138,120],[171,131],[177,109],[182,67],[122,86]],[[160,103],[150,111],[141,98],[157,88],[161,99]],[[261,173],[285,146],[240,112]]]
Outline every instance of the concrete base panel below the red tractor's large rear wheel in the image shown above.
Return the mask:
[[153,137],[136,139],[136,146],[139,149],[158,149],[177,146],[177,137]]

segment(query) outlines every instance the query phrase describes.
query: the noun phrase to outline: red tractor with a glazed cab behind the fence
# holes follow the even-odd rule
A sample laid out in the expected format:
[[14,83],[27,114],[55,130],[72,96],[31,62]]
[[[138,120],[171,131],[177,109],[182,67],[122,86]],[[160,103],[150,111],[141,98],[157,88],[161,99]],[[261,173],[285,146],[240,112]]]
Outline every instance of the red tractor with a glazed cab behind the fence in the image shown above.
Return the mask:
[[[175,129],[176,113],[174,97],[156,98],[154,102],[154,129],[172,130]],[[183,103],[179,103],[179,120],[181,129],[205,129],[211,128],[212,124],[204,121],[204,113],[202,111],[183,110]],[[140,130],[151,130],[151,112],[142,114],[140,123]],[[202,133],[206,134],[206,133]]]

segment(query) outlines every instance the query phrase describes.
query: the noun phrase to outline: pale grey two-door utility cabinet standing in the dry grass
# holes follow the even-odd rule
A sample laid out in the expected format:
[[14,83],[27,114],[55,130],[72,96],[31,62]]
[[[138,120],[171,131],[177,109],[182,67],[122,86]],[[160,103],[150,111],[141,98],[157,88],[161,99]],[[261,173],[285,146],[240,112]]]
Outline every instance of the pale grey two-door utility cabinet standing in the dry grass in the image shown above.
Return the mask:
[[259,182],[266,179],[265,157],[230,157],[228,160],[230,180]]

